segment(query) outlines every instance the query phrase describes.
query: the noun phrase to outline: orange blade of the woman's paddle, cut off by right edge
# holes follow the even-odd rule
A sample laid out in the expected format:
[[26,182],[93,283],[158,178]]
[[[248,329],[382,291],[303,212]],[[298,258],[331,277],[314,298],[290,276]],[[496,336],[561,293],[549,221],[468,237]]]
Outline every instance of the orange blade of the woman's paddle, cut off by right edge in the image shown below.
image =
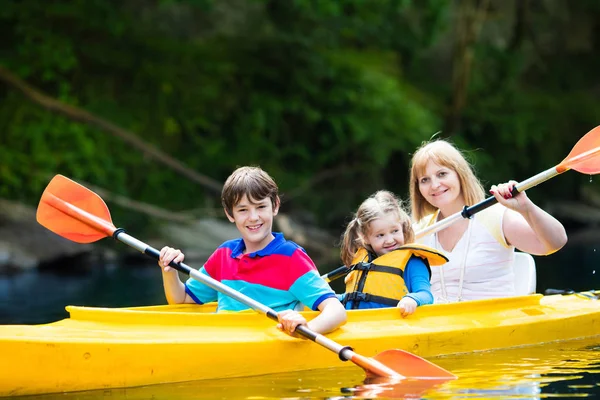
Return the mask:
[[600,173],[600,126],[585,134],[557,167],[559,173],[574,169],[582,174]]

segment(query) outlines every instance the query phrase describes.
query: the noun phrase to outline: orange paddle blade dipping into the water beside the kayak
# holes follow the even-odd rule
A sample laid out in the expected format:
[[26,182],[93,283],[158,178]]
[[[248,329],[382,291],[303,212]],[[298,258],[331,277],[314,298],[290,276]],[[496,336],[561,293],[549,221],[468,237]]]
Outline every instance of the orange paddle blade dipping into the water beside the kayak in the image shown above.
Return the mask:
[[456,375],[415,354],[404,350],[386,350],[373,359],[406,378],[456,379]]

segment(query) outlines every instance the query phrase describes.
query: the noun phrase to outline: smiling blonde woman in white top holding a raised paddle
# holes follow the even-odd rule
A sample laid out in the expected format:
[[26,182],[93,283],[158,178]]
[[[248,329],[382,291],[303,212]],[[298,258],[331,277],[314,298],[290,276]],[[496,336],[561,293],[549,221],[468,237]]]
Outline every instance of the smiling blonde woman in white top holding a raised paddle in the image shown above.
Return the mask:
[[[419,242],[444,251],[450,261],[433,271],[436,303],[515,295],[515,246],[545,255],[567,242],[562,224],[525,194],[511,194],[515,181],[492,186],[496,204]],[[444,140],[424,143],[410,173],[412,217],[418,229],[484,199],[484,190],[461,152]]]

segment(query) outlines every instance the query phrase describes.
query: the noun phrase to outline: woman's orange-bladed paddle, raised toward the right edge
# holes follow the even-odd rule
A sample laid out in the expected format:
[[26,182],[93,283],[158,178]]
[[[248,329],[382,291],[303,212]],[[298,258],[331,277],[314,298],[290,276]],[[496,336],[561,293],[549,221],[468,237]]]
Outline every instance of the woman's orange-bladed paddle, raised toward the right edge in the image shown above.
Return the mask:
[[[530,189],[570,169],[587,175],[600,173],[600,126],[595,127],[579,139],[569,155],[562,160],[560,164],[516,184],[512,189],[512,193],[517,194]],[[475,205],[470,207],[465,206],[462,211],[459,211],[448,218],[444,218],[423,230],[415,232],[415,239],[441,231],[463,218],[471,218],[473,215],[485,210],[497,202],[498,200],[496,200],[494,196],[490,196]],[[321,276],[321,278],[325,279],[327,282],[331,282],[346,275],[350,270],[350,268],[344,265]]]

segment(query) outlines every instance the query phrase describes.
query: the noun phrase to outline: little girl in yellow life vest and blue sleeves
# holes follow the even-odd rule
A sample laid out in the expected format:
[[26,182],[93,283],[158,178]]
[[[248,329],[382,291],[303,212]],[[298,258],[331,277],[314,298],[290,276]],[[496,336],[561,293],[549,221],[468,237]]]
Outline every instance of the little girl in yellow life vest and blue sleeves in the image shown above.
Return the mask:
[[400,200],[378,191],[356,211],[342,237],[341,258],[352,271],[346,276],[342,302],[347,309],[398,307],[402,316],[433,303],[429,265],[446,258],[414,240],[410,217]]

